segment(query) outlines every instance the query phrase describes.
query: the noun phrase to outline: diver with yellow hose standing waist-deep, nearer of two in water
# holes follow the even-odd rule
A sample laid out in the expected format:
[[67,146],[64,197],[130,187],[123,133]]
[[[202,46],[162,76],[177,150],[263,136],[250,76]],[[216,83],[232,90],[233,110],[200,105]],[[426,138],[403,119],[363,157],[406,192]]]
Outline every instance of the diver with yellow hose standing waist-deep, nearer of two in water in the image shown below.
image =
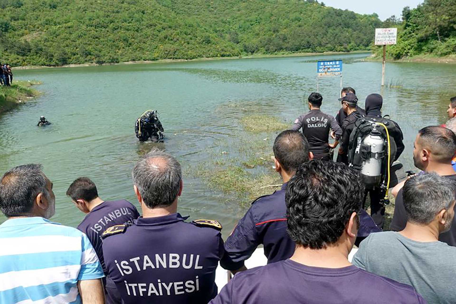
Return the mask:
[[146,141],[150,138],[155,143],[162,143],[165,134],[164,129],[158,119],[158,112],[147,110],[145,111],[135,123],[136,137],[140,141]]

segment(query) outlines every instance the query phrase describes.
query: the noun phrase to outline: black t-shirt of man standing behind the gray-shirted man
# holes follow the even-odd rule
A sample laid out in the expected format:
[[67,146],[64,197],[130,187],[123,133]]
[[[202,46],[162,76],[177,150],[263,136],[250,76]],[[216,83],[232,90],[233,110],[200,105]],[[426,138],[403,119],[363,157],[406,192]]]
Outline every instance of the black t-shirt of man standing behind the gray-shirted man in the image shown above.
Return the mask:
[[[449,180],[456,181],[456,175],[443,175],[443,177]],[[391,220],[391,225],[389,227],[393,231],[404,230],[405,224],[407,224],[407,212],[405,211],[404,199],[402,195],[403,190],[404,188],[399,190],[398,195],[396,196],[396,201],[394,201],[394,215],[393,219]],[[451,222],[450,230],[448,230],[447,232],[440,233],[439,241],[445,242],[450,246],[456,247],[456,216],[453,217],[453,222]]]

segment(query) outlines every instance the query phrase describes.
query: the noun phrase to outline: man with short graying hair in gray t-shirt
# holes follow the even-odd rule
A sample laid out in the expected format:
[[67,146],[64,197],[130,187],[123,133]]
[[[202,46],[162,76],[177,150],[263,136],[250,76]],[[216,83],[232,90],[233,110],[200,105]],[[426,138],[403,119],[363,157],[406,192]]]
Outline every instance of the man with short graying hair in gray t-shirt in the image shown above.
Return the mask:
[[413,286],[428,303],[456,303],[456,248],[439,241],[451,227],[455,183],[436,173],[415,175],[403,188],[407,224],[400,232],[369,235],[352,263]]

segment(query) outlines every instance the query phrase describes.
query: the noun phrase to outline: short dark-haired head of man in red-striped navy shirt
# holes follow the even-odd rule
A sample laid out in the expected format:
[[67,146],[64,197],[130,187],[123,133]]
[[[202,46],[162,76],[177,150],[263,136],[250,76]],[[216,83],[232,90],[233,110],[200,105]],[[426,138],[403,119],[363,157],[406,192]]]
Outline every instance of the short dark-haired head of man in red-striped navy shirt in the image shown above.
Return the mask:
[[295,130],[285,130],[274,141],[274,157],[288,173],[295,173],[299,166],[309,161],[309,143]]

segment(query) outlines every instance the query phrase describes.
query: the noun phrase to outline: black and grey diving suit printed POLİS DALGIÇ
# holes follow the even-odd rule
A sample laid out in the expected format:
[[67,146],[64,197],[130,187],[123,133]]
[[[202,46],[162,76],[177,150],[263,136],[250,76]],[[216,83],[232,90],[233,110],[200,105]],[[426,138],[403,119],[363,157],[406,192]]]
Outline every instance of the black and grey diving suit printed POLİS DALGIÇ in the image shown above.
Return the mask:
[[306,136],[309,142],[310,151],[315,159],[330,160],[328,137],[332,129],[338,141],[342,135],[342,129],[331,115],[321,112],[319,109],[311,110],[307,114],[299,116],[291,129],[299,130]]

